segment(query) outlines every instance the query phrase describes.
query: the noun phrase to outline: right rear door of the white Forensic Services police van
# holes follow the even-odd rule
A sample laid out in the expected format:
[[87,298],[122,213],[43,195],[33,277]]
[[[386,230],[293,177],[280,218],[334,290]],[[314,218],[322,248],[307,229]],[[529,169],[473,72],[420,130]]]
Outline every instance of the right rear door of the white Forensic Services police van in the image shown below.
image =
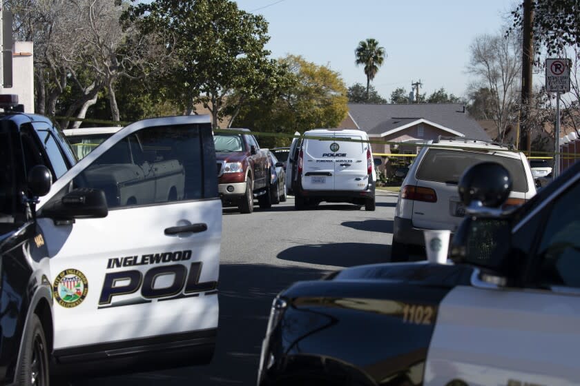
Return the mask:
[[367,174],[367,147],[369,143],[346,142],[345,139],[362,141],[358,135],[336,133],[334,136],[337,149],[334,157],[334,189],[366,190],[369,185]]

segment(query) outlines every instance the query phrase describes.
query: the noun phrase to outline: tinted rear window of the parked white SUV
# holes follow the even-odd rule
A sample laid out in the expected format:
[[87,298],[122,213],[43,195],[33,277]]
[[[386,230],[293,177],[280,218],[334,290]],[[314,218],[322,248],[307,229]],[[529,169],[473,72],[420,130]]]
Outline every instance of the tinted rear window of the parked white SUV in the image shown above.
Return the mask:
[[528,192],[528,180],[520,159],[479,152],[429,149],[418,167],[416,177],[424,181],[458,183],[468,167],[489,161],[500,163],[510,172],[514,192]]

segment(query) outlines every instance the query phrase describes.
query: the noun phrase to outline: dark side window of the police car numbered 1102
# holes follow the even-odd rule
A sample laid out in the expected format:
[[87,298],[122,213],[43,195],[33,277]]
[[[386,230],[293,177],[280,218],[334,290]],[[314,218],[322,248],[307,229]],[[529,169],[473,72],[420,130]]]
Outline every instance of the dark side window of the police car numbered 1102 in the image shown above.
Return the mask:
[[539,247],[540,283],[580,287],[580,183],[552,205]]

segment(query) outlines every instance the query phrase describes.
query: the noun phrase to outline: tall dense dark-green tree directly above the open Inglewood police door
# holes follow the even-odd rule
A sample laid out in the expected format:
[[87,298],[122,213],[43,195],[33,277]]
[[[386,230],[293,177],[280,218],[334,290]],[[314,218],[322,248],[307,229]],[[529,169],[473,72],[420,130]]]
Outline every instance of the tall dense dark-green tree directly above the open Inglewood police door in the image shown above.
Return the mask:
[[275,82],[276,63],[264,49],[268,23],[261,15],[238,9],[229,0],[154,0],[132,6],[128,19],[142,19],[144,32],[162,32],[173,52],[169,94],[186,114],[195,103],[211,111],[213,126],[236,90],[238,102],[250,100],[259,88]]

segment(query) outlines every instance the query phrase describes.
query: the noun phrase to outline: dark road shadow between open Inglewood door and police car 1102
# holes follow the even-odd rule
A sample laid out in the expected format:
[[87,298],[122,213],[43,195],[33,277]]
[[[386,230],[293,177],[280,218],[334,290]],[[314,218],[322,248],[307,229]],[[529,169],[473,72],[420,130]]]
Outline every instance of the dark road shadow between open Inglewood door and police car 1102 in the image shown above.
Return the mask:
[[255,385],[270,306],[295,281],[327,271],[256,264],[220,266],[220,325],[212,363],[107,378],[77,379],[74,386]]

